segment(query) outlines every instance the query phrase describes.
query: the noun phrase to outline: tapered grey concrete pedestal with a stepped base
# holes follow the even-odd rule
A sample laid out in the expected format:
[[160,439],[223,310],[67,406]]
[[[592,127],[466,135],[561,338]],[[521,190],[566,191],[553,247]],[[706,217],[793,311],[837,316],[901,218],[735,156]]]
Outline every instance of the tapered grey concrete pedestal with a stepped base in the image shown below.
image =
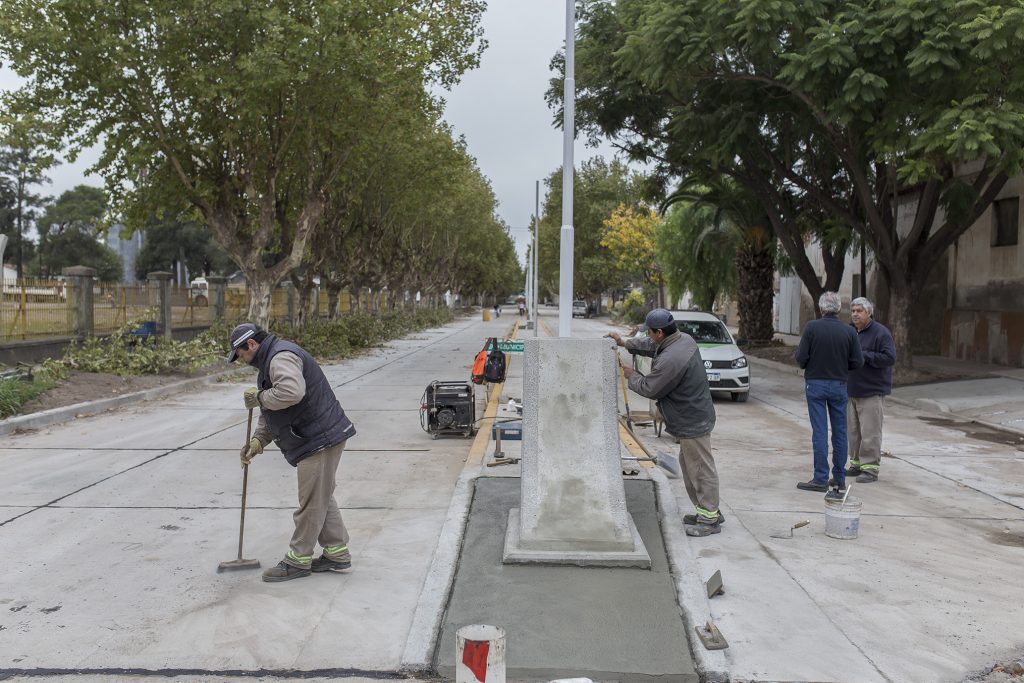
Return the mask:
[[626,510],[612,346],[525,340],[522,485],[507,563],[650,566]]

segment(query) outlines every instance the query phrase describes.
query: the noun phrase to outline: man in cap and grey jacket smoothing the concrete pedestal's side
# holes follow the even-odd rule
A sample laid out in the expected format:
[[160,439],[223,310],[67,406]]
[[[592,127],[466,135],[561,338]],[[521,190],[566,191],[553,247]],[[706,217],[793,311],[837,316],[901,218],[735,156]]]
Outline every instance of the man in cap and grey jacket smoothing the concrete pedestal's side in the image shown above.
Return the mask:
[[630,389],[657,400],[665,428],[679,441],[683,483],[696,514],[683,515],[687,536],[711,536],[725,521],[718,510],[718,470],[711,455],[715,405],[708,374],[693,338],[679,332],[672,313],[655,308],[644,321],[647,337],[623,340],[617,332],[606,336],[633,354],[650,356],[646,375],[623,365]]

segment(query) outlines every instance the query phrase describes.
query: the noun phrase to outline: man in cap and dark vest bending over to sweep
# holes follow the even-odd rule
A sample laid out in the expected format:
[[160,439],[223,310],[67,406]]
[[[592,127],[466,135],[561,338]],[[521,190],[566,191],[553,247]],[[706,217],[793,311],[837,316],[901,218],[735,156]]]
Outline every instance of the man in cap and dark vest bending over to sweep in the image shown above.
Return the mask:
[[[341,571],[352,565],[348,529],[334,500],[341,452],[355,427],[345,416],[324,371],[298,344],[279,339],[252,323],[231,331],[229,362],[241,357],[259,371],[246,389],[245,405],[258,408],[259,424],[240,454],[248,465],[272,439],[296,468],[299,507],[285,559],[263,572],[263,581],[291,581],[311,571]],[[324,553],[313,559],[319,542]]]

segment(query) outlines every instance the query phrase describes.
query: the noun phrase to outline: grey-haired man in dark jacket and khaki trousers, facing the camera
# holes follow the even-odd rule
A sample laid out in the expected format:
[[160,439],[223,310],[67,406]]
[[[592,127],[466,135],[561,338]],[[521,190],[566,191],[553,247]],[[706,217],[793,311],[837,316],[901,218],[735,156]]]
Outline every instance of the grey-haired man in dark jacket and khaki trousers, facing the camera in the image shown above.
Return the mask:
[[874,304],[864,297],[850,302],[850,319],[857,330],[864,365],[850,371],[847,392],[850,411],[847,425],[850,431],[850,468],[847,476],[857,477],[857,483],[879,480],[882,465],[883,397],[892,393],[893,366],[896,365],[896,344],[886,326],[873,318]]

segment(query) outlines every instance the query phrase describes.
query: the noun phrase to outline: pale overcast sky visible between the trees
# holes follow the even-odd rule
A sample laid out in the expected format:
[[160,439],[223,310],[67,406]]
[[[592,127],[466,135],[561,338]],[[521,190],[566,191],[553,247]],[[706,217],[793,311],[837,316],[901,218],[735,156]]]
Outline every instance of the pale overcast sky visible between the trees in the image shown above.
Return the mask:
[[[562,133],[552,126],[553,112],[544,101],[552,77],[549,62],[565,40],[565,3],[562,0],[489,0],[483,17],[488,47],[480,68],[466,74],[453,91],[441,93],[447,102],[445,119],[464,135],[469,153],[490,179],[498,198],[498,214],[512,228],[520,257],[525,253],[525,228],[534,214],[534,187],[562,163]],[[0,70],[0,88],[16,87],[16,78]],[[609,146],[575,144],[575,166]],[[78,162],[65,163],[49,173],[53,183],[42,188],[58,196],[78,184],[102,185],[85,169],[98,158],[84,153]],[[557,188],[561,191],[561,188]]]

